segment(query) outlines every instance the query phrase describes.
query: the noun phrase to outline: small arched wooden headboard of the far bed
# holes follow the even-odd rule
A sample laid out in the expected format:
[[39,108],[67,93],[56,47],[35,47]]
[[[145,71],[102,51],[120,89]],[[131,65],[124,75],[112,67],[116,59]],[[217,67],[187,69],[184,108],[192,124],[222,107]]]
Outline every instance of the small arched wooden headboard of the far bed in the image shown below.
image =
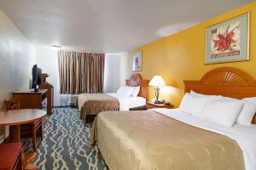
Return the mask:
[[148,80],[143,80],[143,78],[137,74],[134,73],[131,75],[129,80],[126,80],[126,86],[140,86],[140,92],[138,96],[143,97],[148,100]]

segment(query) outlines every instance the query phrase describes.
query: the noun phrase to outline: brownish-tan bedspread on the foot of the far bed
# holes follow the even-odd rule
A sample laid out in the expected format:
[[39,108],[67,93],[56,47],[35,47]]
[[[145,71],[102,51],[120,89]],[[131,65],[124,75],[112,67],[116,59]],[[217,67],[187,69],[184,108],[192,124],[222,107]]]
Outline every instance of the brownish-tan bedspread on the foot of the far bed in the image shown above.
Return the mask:
[[108,94],[79,94],[78,105],[83,122],[86,115],[97,115],[102,111],[119,111],[119,100]]

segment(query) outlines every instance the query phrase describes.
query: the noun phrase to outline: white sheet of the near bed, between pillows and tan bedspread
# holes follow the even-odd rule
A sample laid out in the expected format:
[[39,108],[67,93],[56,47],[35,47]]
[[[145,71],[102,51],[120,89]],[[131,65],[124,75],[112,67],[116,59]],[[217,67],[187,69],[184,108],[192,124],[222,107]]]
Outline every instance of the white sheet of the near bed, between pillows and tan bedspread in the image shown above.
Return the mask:
[[239,144],[244,157],[245,167],[247,170],[256,169],[256,126],[243,126],[235,124],[234,127],[226,127],[224,125],[208,122],[199,117],[192,116],[189,113],[179,111],[179,109],[151,109],[162,115],[172,117],[177,121],[184,122],[194,127],[219,133],[234,139]]

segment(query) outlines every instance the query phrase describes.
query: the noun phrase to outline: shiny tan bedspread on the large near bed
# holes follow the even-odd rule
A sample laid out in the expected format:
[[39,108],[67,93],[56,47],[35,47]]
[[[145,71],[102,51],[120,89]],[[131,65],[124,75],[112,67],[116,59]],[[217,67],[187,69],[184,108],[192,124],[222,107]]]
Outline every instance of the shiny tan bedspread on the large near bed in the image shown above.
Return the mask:
[[236,141],[154,111],[102,112],[94,123],[110,170],[243,170]]

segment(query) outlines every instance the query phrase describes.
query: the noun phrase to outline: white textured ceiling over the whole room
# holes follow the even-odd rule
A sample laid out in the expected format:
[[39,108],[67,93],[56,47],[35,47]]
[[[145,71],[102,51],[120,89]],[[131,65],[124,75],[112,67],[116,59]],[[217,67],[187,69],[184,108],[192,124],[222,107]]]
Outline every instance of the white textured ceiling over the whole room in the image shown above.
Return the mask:
[[251,0],[0,0],[36,46],[126,52]]

